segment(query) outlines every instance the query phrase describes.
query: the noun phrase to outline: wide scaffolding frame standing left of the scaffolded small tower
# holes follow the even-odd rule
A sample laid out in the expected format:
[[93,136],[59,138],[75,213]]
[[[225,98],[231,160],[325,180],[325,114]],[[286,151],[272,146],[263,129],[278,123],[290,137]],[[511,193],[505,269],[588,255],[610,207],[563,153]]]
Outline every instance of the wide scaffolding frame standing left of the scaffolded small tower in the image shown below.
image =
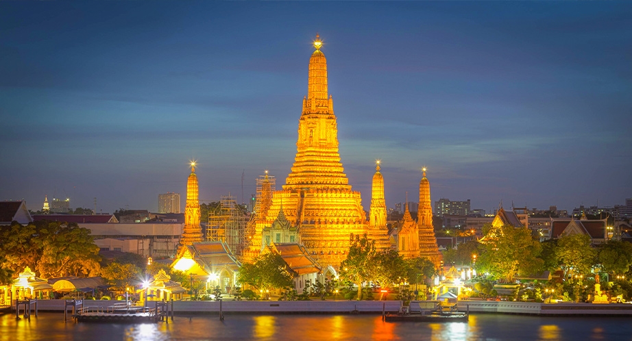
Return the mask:
[[247,223],[248,215],[229,193],[220,197],[218,209],[208,214],[206,240],[226,242],[234,255],[241,255]]

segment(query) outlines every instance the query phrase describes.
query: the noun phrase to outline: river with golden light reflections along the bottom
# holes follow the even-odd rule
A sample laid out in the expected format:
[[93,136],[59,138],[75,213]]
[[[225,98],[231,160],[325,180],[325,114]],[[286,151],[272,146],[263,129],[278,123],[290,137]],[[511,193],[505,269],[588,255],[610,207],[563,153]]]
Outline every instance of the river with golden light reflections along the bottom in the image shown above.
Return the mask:
[[175,316],[169,324],[0,316],[0,340],[632,340],[629,317],[472,314],[467,323],[385,323],[376,315]]

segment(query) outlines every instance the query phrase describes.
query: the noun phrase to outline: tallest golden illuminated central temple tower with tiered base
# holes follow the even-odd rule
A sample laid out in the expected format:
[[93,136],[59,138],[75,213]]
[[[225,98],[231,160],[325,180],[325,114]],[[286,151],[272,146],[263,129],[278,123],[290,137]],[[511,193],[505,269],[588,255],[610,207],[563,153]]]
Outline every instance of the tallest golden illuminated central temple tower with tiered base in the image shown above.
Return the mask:
[[319,36],[314,47],[294,164],[260,224],[271,226],[282,202],[287,220],[297,227],[306,249],[323,266],[337,267],[349,251],[351,234],[367,233],[368,223],[360,193],[351,189],[340,162],[336,116],[327,92],[327,60],[320,51]]

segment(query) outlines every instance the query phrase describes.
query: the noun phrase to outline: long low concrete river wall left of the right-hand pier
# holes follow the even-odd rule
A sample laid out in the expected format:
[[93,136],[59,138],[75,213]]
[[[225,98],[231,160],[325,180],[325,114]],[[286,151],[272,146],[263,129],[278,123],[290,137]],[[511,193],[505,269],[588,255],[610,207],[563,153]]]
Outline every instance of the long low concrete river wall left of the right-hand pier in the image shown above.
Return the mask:
[[[120,302],[120,301],[119,301]],[[106,309],[117,301],[85,300],[84,307]],[[401,301],[223,301],[225,314],[382,314],[398,312]],[[154,302],[147,302],[154,307]],[[63,312],[64,300],[38,301],[39,311]],[[178,314],[216,314],[218,301],[173,301],[173,311]]]

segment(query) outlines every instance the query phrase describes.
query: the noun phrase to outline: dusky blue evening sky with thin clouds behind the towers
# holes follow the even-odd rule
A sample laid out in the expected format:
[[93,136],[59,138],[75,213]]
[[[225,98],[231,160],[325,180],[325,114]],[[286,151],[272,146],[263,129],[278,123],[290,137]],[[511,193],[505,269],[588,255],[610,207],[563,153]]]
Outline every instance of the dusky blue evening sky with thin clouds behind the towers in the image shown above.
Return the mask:
[[[319,33],[341,161],[369,209],[572,210],[632,197],[630,2],[1,2],[0,200],[97,212],[247,201],[296,152]],[[243,195],[242,195],[242,173]]]

